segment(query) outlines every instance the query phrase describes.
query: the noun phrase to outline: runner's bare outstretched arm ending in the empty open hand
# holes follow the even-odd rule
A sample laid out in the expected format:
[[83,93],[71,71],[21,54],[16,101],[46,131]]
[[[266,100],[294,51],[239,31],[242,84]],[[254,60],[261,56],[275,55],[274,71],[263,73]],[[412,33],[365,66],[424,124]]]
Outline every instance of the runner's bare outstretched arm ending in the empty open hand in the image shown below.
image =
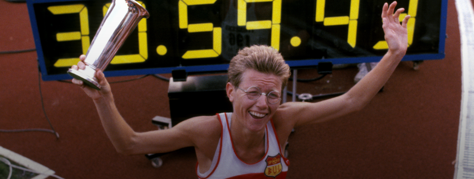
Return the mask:
[[383,5],[382,27],[389,49],[374,69],[344,95],[318,103],[285,103],[278,114],[287,118],[292,116],[291,119],[295,119],[293,125],[299,126],[334,119],[366,106],[388,81],[407,50],[407,23],[410,16],[405,16],[400,24],[399,16],[404,9],[399,8],[394,12],[396,5],[396,1],[390,6],[387,3]]

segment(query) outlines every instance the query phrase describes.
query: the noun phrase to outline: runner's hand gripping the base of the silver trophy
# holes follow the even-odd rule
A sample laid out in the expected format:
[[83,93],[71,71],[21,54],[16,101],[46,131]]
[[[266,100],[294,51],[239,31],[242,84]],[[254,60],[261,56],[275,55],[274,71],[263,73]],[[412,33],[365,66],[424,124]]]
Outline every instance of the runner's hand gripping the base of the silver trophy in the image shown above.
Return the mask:
[[[78,70],[78,69],[83,70],[86,67],[86,65],[83,62],[85,60],[85,57],[86,57],[85,55],[81,55],[79,57],[81,61],[79,61],[77,65],[73,65],[71,68],[74,70]],[[75,79],[75,78],[73,79],[72,82],[74,84],[79,85],[82,88],[82,90],[84,90],[84,92],[87,94],[87,96],[91,97],[93,100],[98,100],[100,98],[104,98],[107,96],[111,97],[112,93],[110,92],[110,85],[109,85],[109,82],[107,82],[107,79],[105,79],[104,73],[102,73],[101,70],[97,70],[95,72],[95,77],[97,78],[97,81],[99,82],[100,86],[102,86],[100,90],[93,89],[87,86],[86,84],[84,84],[83,81]]]

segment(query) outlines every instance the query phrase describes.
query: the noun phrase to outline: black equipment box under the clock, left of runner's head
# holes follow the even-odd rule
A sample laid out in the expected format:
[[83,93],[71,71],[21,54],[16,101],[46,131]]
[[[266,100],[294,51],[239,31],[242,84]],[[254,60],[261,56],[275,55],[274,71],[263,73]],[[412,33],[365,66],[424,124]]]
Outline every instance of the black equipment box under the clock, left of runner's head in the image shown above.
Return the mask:
[[227,75],[188,76],[186,81],[171,78],[168,97],[172,125],[195,116],[232,112],[226,84]]

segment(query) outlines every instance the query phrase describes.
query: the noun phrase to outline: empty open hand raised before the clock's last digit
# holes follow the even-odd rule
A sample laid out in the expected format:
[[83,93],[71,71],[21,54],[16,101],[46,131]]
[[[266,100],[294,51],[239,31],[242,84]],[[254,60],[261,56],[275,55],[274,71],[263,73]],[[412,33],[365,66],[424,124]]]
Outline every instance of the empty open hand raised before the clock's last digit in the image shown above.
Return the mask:
[[408,48],[407,23],[410,15],[405,16],[400,24],[399,17],[405,9],[399,8],[393,13],[395,6],[397,6],[397,1],[393,1],[390,7],[388,3],[383,4],[382,28],[389,51],[405,53]]

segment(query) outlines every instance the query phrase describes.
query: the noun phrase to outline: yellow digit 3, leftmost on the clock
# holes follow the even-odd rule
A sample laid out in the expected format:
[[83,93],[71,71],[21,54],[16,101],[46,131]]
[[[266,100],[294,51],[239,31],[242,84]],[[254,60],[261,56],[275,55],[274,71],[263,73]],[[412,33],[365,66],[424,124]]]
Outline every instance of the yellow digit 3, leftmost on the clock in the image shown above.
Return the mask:
[[[89,17],[87,14],[87,7],[83,4],[50,6],[47,8],[49,12],[54,15],[74,14],[79,13],[79,21],[81,24],[81,31],[56,33],[57,41],[82,41],[82,53],[86,54],[87,49],[91,45],[89,38]],[[68,67],[76,65],[79,62],[77,58],[59,58],[54,64],[55,67]]]

